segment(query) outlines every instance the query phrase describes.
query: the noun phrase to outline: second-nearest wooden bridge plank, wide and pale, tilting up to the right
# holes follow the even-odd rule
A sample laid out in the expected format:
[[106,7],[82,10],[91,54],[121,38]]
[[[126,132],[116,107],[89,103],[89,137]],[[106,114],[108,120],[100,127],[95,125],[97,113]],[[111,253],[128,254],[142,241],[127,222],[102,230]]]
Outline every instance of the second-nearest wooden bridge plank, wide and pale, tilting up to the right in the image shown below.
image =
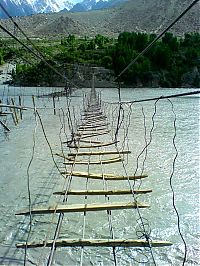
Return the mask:
[[[91,204],[58,204],[49,207],[33,208],[31,214],[50,214],[50,213],[65,213],[65,212],[89,212],[89,211],[105,211],[105,210],[120,210],[120,209],[135,209],[149,208],[145,203],[139,202],[109,202],[109,203],[91,203]],[[16,215],[30,215],[29,210],[24,210],[16,213]]]

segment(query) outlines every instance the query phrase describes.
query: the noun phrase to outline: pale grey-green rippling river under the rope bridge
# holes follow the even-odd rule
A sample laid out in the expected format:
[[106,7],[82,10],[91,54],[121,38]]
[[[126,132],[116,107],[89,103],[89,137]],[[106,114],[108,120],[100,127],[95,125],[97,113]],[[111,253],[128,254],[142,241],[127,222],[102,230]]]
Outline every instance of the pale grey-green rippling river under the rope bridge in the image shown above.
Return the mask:
[[[17,103],[18,96],[21,95],[24,105],[32,108],[32,94],[41,95],[54,90],[54,88],[15,88],[0,85],[0,96],[4,102],[8,97],[13,97]],[[121,97],[123,101],[130,101],[190,90],[124,88],[121,91]],[[89,92],[88,89],[83,91],[84,93]],[[77,90],[71,97],[70,109],[72,116],[75,114],[76,119],[80,118],[83,91]],[[101,94],[104,110],[107,112],[108,122],[112,125],[111,133],[114,134],[118,105],[110,103],[118,101],[117,90],[108,88],[98,89],[98,91]],[[175,193],[175,205],[180,217],[180,230],[187,244],[185,265],[199,265],[199,96],[173,98],[171,101],[176,114],[175,145],[178,151],[172,186]],[[62,108],[66,110],[66,98],[56,99],[56,115],[53,114],[52,98],[35,98],[35,102],[53,153],[60,152],[60,138],[62,140],[66,138],[65,132],[69,136],[67,124],[65,132],[61,129]],[[73,106],[74,108],[72,108]],[[146,141],[149,142],[151,139],[144,163],[144,172],[148,174],[148,178],[142,180],[141,187],[150,188],[153,192],[151,195],[141,196],[141,201],[150,205],[150,208],[142,210],[141,213],[151,228],[152,239],[173,243],[170,247],[153,248],[156,264],[162,266],[182,265],[184,245],[178,232],[177,215],[173,208],[170,187],[170,176],[176,155],[173,145],[175,115],[172,111],[172,104],[168,100],[159,100],[156,103],[155,114],[155,101],[133,105],[125,104],[123,111],[124,119],[119,130],[119,139],[123,140],[126,135],[125,148],[129,148],[132,152],[128,161],[125,159],[125,162],[128,163],[126,169],[129,174],[135,172],[138,155],[145,146],[145,129]],[[12,117],[9,115],[2,121],[5,120],[7,120],[7,126],[11,131],[5,132],[3,128],[0,128],[0,265],[23,265],[24,251],[16,249],[15,244],[26,240],[29,218],[15,216],[15,213],[28,207],[27,168],[32,158],[34,139],[35,150],[29,169],[32,204],[45,206],[59,202],[59,196],[52,193],[63,188],[64,179],[60,177],[55,168],[40,121],[38,117],[35,118],[33,109],[23,111],[23,119],[17,126],[13,124]],[[104,140],[106,141],[106,137]],[[119,147],[122,144],[122,142],[119,143]],[[143,168],[143,162],[144,154],[139,158],[138,173]],[[58,160],[58,164],[62,167],[61,160]],[[97,168],[93,169],[93,171],[95,170]],[[106,166],[105,170],[114,173],[122,171],[120,164]],[[107,185],[111,187],[113,183],[109,182]],[[121,182],[115,185],[116,188],[122,186]],[[100,181],[89,181],[88,186],[94,188],[96,184],[99,188],[103,186]],[[136,185],[140,186],[140,184]],[[73,180],[74,188],[84,189],[85,186],[86,180],[81,178]],[[118,201],[118,198],[113,196],[115,201]],[[124,201],[130,200],[130,196],[124,198]],[[79,203],[80,201],[84,202],[83,196],[69,199],[69,203]],[[88,203],[93,201],[104,202],[105,199],[100,196],[88,197]],[[112,211],[112,215],[115,237],[134,238],[137,230],[135,212],[133,210],[115,210]],[[83,215],[69,214],[65,216],[60,237],[81,238]],[[34,217],[30,239],[35,241],[51,239],[56,221],[55,215],[54,217],[45,215]],[[86,215],[85,238],[108,238],[110,233],[108,228],[106,213],[102,212],[102,214],[96,215],[91,212]],[[49,248],[28,250],[27,265],[46,265],[49,251]],[[81,252],[81,248],[58,248],[54,265],[80,265]],[[145,254],[141,254],[134,248],[118,248],[116,256],[118,265],[154,265],[149,250]],[[137,262],[138,260],[141,262],[140,264]],[[82,265],[114,265],[112,250],[109,248],[85,248]]]

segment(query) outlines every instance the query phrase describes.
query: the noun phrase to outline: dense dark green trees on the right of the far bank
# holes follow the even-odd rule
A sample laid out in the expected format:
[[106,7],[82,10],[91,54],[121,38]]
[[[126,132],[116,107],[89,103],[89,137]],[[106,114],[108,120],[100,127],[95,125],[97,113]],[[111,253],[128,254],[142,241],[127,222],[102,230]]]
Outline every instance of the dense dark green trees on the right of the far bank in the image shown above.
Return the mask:
[[[145,33],[121,33],[114,48],[113,66],[119,74],[156,36]],[[193,73],[194,78],[188,73]],[[196,75],[195,75],[196,73]],[[144,56],[123,75],[128,84],[149,85],[157,78],[161,87],[200,84],[200,34],[185,34],[177,38],[166,33]],[[188,78],[187,78],[188,74]]]

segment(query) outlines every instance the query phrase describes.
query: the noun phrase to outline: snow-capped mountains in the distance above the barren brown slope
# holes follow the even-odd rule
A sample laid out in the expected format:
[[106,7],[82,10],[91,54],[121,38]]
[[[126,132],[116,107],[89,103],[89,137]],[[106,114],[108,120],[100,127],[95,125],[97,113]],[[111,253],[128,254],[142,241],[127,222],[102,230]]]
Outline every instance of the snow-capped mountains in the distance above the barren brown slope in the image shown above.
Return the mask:
[[[26,16],[59,11],[89,11],[117,6],[128,0],[0,0],[11,16]],[[7,15],[0,7],[0,18]]]

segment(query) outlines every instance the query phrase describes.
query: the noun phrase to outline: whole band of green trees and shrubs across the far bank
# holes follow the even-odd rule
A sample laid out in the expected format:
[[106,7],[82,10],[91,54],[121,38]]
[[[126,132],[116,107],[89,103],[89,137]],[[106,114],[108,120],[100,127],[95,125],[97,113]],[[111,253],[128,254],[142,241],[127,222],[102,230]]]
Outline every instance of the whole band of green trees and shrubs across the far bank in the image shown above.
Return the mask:
[[[154,34],[123,32],[117,40],[97,35],[78,39],[69,35],[62,40],[37,40],[35,44],[49,63],[66,73],[67,65],[103,66],[118,75],[154,38]],[[2,42],[1,42],[2,43]],[[14,82],[52,85],[56,75],[42,61],[33,60],[24,49],[0,43],[0,63],[18,58]],[[23,60],[19,58],[23,57]],[[25,62],[32,62],[28,64]],[[200,34],[187,33],[178,38],[166,33],[146,54],[121,76],[129,86],[200,86]],[[69,77],[70,78],[70,77]]]

